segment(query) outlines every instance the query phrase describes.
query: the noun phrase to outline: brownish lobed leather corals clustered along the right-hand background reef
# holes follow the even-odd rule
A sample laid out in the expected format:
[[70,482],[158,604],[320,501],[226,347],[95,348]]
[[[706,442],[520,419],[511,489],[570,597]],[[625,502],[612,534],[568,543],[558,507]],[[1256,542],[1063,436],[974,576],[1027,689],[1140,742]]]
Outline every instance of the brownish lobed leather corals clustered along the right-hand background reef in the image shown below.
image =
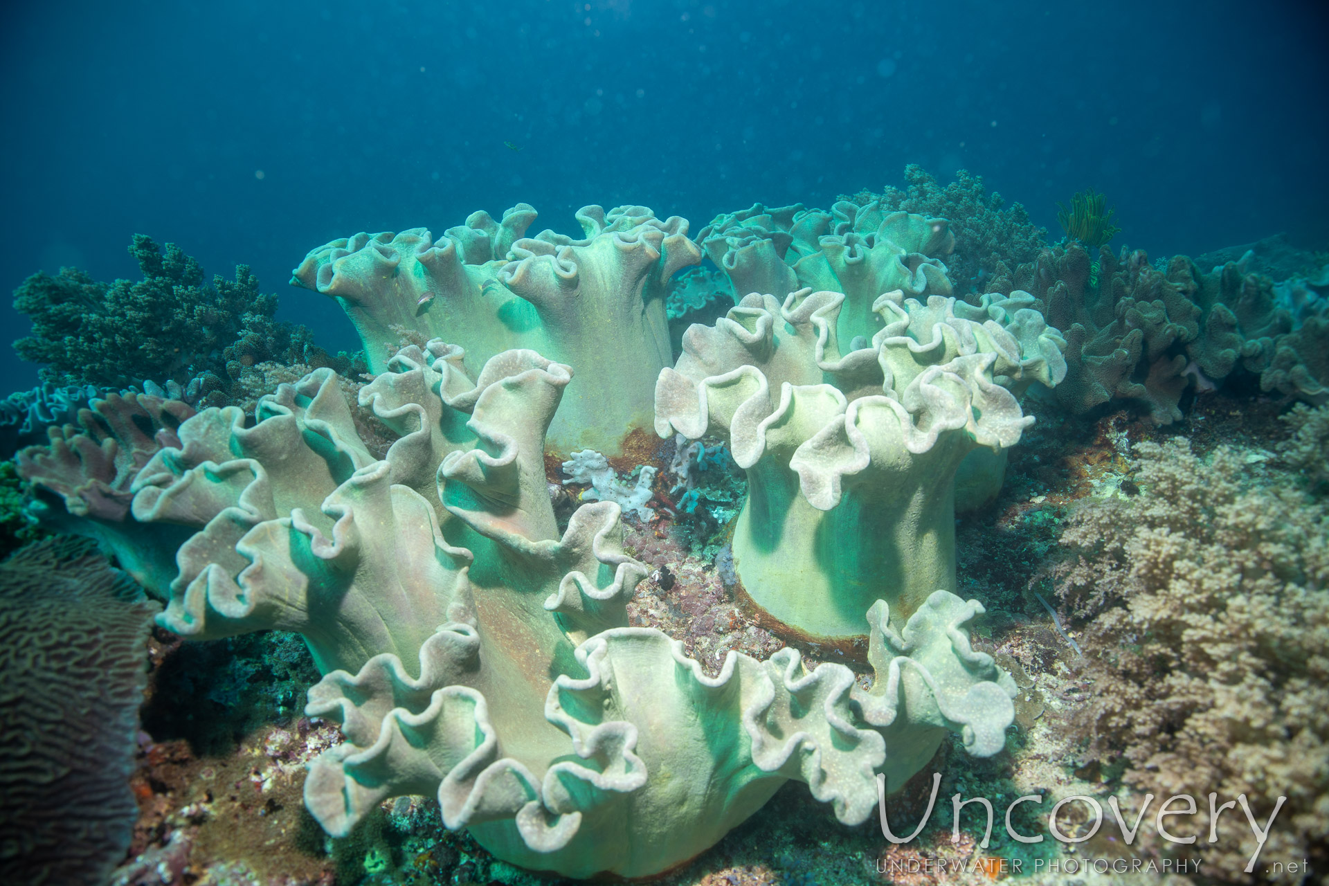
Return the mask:
[[[1066,384],[1057,399],[1082,413],[1112,399],[1135,401],[1156,424],[1181,417],[1192,384],[1204,389],[1237,369],[1263,391],[1310,402],[1329,397],[1329,317],[1294,328],[1273,283],[1247,270],[1249,254],[1201,272],[1184,255],[1166,270],[1148,255],[1078,243],[1051,247],[1014,271],[1002,266],[998,292],[1027,291],[1066,331]],[[1095,270],[1096,268],[1096,270]]]

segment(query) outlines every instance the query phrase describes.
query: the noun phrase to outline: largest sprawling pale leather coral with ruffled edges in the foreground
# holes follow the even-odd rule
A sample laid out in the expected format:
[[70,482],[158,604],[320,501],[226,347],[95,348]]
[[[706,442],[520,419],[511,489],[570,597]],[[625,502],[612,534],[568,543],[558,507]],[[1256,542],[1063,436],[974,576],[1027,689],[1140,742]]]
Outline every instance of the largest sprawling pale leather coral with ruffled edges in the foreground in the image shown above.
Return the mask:
[[346,735],[306,781],[330,833],[435,793],[449,828],[506,861],[645,877],[785,780],[857,824],[876,773],[901,786],[946,729],[975,754],[1003,747],[1014,685],[969,646],[982,607],[946,591],[902,627],[872,607],[869,689],[793,650],[731,652],[712,677],[629,627],[645,567],[622,550],[618,505],[581,506],[560,535],[545,481],[571,371],[506,351],[472,381],[462,356],[408,347],[360,392],[403,434],[381,461],[320,369],[260,401],[253,426],[233,408],[189,418],[133,484],[133,519],[201,526],[158,588],[163,626],[307,639],[326,673],[307,712]]

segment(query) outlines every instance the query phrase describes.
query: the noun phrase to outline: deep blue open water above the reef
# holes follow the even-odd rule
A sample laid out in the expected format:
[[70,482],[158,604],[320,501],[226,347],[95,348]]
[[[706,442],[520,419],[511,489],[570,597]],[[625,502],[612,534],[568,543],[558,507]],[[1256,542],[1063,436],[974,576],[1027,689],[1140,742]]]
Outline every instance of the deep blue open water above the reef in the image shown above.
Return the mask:
[[[695,232],[898,185],[909,162],[983,175],[1054,236],[1055,202],[1094,186],[1114,246],[1329,244],[1322,4],[1050,5],[8,7],[0,290],[61,264],[137,279],[145,232],[210,274],[251,264],[282,316],[350,348],[335,303],[286,284],[334,236],[518,201],[534,230],[633,202]],[[0,302],[8,341],[27,321]],[[36,380],[8,348],[0,371],[0,393]]]

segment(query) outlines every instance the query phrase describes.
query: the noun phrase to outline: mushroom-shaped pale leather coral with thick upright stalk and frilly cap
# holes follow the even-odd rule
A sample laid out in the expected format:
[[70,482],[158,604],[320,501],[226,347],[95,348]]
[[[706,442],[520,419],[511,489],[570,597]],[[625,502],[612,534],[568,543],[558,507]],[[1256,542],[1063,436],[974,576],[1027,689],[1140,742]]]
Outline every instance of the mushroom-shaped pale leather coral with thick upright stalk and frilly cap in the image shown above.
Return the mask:
[[985,448],[966,494],[999,489],[1001,453],[1033,422],[1017,397],[1066,373],[1063,341],[1027,294],[970,306],[888,292],[872,347],[843,353],[847,302],[748,295],[691,327],[655,388],[658,434],[720,436],[747,470],[732,541],[743,588],[821,639],[861,635],[859,614],[878,598],[908,618],[956,587],[961,462]]

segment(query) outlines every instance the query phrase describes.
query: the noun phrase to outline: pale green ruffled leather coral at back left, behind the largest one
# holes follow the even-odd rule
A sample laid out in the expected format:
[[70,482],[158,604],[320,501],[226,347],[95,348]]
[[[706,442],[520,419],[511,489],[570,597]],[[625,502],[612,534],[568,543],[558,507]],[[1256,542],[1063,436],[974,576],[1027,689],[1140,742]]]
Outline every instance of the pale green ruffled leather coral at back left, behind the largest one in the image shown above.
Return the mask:
[[509,348],[533,348],[575,365],[549,432],[569,454],[618,454],[622,438],[651,424],[655,376],[672,361],[666,282],[700,252],[687,222],[661,221],[643,206],[577,213],[585,236],[524,236],[536,210],[518,203],[494,222],[474,213],[435,240],[425,228],[356,234],[310,251],[291,282],[334,296],[384,368],[401,329],[456,341],[482,363]]

